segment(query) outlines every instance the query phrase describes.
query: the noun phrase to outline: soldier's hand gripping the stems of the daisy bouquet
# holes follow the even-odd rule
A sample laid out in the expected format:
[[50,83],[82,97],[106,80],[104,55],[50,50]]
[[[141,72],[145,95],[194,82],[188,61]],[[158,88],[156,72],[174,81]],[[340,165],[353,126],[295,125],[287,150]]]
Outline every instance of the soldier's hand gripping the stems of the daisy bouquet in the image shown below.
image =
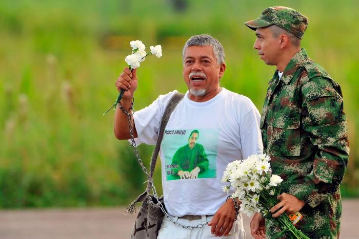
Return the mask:
[[285,192],[283,192],[278,199],[281,202],[270,209],[270,212],[272,213],[276,211],[272,215],[273,218],[277,218],[277,216],[280,216],[283,212],[294,213],[300,211],[305,204],[302,200],[299,200],[297,197]]

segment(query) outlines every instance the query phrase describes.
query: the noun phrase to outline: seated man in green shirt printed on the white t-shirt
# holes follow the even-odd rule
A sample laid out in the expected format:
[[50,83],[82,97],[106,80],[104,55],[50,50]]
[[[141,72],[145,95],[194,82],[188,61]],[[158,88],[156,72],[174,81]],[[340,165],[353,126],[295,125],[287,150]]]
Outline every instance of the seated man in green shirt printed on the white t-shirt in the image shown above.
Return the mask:
[[198,173],[208,169],[209,161],[205,148],[197,143],[200,133],[194,129],[188,143],[177,149],[172,158],[172,165],[177,165],[173,174],[178,175],[180,179],[196,179]]

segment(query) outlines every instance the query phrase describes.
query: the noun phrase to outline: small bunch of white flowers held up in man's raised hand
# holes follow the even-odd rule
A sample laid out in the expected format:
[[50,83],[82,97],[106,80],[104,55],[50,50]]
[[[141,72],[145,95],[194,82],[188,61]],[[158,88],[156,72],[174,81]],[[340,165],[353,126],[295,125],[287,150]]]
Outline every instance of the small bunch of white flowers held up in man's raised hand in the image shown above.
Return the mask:
[[[162,56],[162,47],[161,45],[157,46],[151,46],[150,52],[146,52],[146,46],[142,43],[141,40],[133,40],[130,42],[130,46],[132,47],[132,54],[126,56],[125,61],[129,66],[129,69],[136,69],[140,66],[139,63],[143,62],[146,59],[146,56],[148,55],[155,55],[158,58]],[[117,96],[117,99],[115,103],[104,113],[104,115],[111,110],[111,108],[115,107],[119,103],[119,101],[122,99],[124,95],[125,90],[121,89],[119,92],[119,95]]]

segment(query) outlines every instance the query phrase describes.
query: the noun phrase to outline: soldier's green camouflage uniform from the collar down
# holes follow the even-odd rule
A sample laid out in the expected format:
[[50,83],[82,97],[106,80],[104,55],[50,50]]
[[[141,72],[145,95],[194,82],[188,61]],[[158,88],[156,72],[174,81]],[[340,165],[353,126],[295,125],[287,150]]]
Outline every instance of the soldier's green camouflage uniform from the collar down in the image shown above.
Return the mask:
[[[340,86],[308,58],[305,49],[269,82],[261,130],[264,153],[283,192],[306,204],[297,223],[310,238],[339,235],[340,183],[349,157],[346,115]],[[266,220],[267,235],[277,231]]]

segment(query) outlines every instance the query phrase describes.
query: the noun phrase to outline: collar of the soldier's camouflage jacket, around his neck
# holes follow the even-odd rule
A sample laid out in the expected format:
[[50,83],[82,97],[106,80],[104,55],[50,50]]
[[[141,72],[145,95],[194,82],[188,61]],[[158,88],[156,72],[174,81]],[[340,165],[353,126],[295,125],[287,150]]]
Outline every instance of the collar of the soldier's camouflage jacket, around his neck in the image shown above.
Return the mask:
[[[286,69],[283,72],[281,80],[286,84],[293,78],[296,70],[303,66],[303,63],[308,61],[308,55],[304,48],[301,51],[298,51],[292,59],[290,59],[289,63],[287,64]],[[278,74],[278,70],[275,71],[275,74]]]

